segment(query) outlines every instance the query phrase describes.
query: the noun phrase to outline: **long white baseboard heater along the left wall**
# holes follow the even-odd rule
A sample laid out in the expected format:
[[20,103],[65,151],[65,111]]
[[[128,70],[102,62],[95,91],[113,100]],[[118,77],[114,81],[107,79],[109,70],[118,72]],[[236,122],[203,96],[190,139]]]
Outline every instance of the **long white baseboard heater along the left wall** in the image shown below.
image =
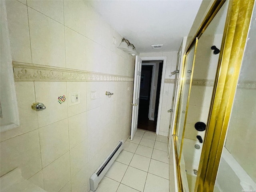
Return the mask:
[[123,143],[124,141],[121,140],[114,150],[107,156],[107,158],[104,160],[104,162],[100,165],[100,167],[92,174],[90,177],[90,188],[92,191],[95,191],[98,187],[99,182],[102,180],[103,176],[106,174],[112,163],[116,160],[118,155],[123,149]]

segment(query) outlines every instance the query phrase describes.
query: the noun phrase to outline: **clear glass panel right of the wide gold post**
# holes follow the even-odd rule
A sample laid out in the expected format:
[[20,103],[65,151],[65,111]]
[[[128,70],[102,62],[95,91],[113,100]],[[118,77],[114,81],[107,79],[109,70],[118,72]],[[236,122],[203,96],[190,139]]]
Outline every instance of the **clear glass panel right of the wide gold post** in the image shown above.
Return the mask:
[[214,192],[256,191],[255,8],[254,5]]

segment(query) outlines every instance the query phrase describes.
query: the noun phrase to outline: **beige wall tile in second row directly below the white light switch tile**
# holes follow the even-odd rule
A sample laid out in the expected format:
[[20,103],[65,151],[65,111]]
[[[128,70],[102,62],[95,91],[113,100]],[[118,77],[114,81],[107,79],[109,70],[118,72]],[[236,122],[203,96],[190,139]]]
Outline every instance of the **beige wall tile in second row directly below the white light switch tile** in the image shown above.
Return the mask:
[[87,163],[87,140],[70,150],[70,171],[73,178]]

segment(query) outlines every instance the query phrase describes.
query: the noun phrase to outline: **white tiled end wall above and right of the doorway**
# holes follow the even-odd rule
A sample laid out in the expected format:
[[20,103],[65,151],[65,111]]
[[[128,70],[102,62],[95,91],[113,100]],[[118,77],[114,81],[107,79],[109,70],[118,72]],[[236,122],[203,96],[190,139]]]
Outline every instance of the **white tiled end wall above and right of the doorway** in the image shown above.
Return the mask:
[[[161,57],[166,56],[166,70],[164,78],[167,80],[174,79],[175,76],[170,76],[171,72],[176,70],[177,64],[177,54],[178,52],[154,52],[154,53],[140,53],[140,57]],[[170,81],[172,82],[172,81]],[[173,81],[174,82],[174,81]],[[159,135],[168,136],[168,129],[170,124],[170,113],[167,112],[172,106],[172,94],[173,94],[174,84],[164,83],[164,93],[162,100],[162,110],[160,116],[160,127]]]

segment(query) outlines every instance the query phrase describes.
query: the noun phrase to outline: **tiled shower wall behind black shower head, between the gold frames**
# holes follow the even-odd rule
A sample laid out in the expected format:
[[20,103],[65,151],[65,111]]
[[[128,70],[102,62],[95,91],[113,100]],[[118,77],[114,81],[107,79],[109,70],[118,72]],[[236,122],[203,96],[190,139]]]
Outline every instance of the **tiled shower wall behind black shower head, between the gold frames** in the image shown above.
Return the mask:
[[[184,134],[185,138],[197,140],[197,135],[204,138],[205,131],[197,131],[194,124],[196,124],[196,122],[207,123],[213,82],[220,55],[214,55],[211,46],[215,45],[220,49],[221,41],[222,35],[204,35],[198,40],[188,115],[186,119],[186,130]],[[203,82],[205,85],[202,86],[202,84],[198,82]]]

